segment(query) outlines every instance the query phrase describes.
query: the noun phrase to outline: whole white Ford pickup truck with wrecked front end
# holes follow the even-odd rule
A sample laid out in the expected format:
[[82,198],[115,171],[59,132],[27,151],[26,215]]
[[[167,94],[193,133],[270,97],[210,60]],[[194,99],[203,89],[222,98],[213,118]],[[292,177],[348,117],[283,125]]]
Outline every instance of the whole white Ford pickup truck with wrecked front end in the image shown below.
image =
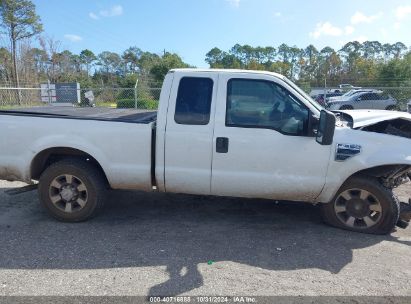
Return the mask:
[[38,181],[63,221],[93,216],[111,188],[319,203],[366,233],[404,224],[392,189],[411,171],[411,115],[331,113],[275,73],[171,70],[158,112],[0,111],[0,130],[0,179]]

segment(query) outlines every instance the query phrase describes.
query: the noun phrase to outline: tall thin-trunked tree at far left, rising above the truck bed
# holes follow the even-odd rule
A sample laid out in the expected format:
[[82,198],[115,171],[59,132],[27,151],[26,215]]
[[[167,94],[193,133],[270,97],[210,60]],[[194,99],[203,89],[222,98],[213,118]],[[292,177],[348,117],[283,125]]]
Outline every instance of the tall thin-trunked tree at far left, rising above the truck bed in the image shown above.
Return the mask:
[[[43,30],[36,7],[30,0],[0,0],[1,27],[10,39],[13,61],[13,76],[16,87],[20,87],[17,70],[17,43],[31,38]],[[19,103],[21,101],[19,94]]]

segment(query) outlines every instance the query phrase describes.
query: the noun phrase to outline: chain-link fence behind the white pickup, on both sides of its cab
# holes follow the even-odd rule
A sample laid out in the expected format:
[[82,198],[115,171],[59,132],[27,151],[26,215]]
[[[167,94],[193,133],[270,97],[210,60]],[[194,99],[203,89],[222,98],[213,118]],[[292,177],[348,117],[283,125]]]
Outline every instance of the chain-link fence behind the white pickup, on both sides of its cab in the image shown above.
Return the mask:
[[[56,92],[55,89],[44,89],[44,87],[0,87],[0,109],[39,107],[52,104],[156,110],[160,92],[161,88],[158,84],[152,87],[147,83],[141,83],[137,88],[64,89],[60,92]],[[76,96],[74,102],[67,100],[69,95]],[[407,111],[407,104],[411,101],[411,86],[351,89],[313,88],[310,95],[321,105],[332,110],[369,108]],[[339,100],[340,104],[330,107],[336,100]],[[341,103],[342,101],[343,103]]]

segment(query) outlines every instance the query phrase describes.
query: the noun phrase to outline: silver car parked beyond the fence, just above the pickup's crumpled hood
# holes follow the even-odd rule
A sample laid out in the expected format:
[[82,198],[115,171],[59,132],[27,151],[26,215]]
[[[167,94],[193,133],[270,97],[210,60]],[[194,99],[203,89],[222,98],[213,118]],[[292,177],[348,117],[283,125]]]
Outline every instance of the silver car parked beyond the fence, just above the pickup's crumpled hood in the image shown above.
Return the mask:
[[383,93],[359,92],[346,98],[330,100],[327,103],[327,108],[330,110],[396,110],[397,100]]

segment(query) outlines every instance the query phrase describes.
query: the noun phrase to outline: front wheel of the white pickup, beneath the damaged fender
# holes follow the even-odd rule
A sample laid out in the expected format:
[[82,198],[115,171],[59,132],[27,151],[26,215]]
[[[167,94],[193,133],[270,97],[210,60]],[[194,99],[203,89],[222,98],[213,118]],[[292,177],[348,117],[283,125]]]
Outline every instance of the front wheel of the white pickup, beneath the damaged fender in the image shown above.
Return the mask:
[[372,234],[390,233],[400,215],[392,190],[371,176],[350,178],[321,209],[324,221],[332,226]]

